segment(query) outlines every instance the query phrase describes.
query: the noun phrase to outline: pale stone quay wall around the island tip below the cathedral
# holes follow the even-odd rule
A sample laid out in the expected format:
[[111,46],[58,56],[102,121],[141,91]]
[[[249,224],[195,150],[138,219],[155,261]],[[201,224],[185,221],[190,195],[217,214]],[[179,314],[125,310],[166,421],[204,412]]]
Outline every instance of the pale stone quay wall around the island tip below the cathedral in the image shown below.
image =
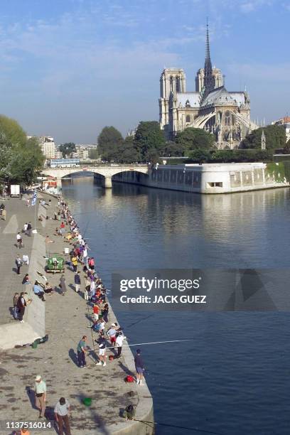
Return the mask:
[[205,163],[159,165],[149,174],[127,171],[113,181],[192,193],[234,193],[288,187],[284,163]]

